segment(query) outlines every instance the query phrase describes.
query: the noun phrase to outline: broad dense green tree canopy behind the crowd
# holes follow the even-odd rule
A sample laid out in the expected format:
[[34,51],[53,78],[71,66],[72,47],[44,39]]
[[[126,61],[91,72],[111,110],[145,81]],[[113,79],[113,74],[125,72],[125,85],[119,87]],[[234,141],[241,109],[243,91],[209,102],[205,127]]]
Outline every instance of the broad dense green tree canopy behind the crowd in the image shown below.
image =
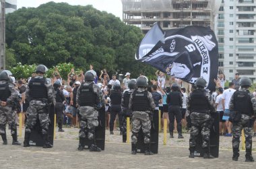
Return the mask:
[[37,8],[23,7],[6,17],[10,66],[13,62],[47,67],[72,63],[86,70],[92,64],[96,71],[154,74],[155,69],[134,59],[141,38],[139,28],[92,5],[49,2]]

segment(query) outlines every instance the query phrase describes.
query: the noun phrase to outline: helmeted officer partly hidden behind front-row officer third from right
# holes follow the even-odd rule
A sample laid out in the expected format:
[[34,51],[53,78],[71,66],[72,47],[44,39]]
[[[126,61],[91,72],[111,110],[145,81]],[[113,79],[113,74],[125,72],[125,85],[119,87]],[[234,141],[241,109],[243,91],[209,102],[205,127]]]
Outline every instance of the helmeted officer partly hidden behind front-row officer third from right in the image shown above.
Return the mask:
[[131,110],[129,109],[130,96],[136,88],[136,80],[131,79],[128,82],[128,88],[123,92],[122,96],[122,113],[123,113],[123,143],[126,142],[127,135],[127,117],[131,117]]

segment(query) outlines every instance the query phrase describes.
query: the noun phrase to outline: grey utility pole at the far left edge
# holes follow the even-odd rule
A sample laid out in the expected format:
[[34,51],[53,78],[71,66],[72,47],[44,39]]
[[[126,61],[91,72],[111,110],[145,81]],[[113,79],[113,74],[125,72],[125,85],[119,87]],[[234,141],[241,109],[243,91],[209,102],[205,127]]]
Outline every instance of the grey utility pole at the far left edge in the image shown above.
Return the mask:
[[0,71],[5,69],[5,0],[1,1],[0,20]]

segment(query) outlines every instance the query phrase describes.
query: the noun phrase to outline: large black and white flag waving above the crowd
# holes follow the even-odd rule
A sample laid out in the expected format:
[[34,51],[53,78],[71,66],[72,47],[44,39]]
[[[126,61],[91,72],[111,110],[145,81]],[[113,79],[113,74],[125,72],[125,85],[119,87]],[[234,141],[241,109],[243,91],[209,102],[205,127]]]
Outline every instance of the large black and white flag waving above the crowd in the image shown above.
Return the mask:
[[198,77],[214,90],[218,73],[218,42],[210,28],[187,26],[163,31],[158,24],[141,40],[135,59],[183,81]]

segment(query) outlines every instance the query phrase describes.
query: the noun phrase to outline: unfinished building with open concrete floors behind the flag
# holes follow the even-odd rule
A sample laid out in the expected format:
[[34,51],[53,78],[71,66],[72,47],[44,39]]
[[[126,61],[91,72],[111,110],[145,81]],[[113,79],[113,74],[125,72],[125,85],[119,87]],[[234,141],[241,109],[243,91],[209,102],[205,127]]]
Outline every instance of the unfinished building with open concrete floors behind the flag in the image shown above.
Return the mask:
[[214,15],[220,1],[216,0],[121,0],[123,22],[148,32],[155,22],[163,30],[185,26],[214,28]]

